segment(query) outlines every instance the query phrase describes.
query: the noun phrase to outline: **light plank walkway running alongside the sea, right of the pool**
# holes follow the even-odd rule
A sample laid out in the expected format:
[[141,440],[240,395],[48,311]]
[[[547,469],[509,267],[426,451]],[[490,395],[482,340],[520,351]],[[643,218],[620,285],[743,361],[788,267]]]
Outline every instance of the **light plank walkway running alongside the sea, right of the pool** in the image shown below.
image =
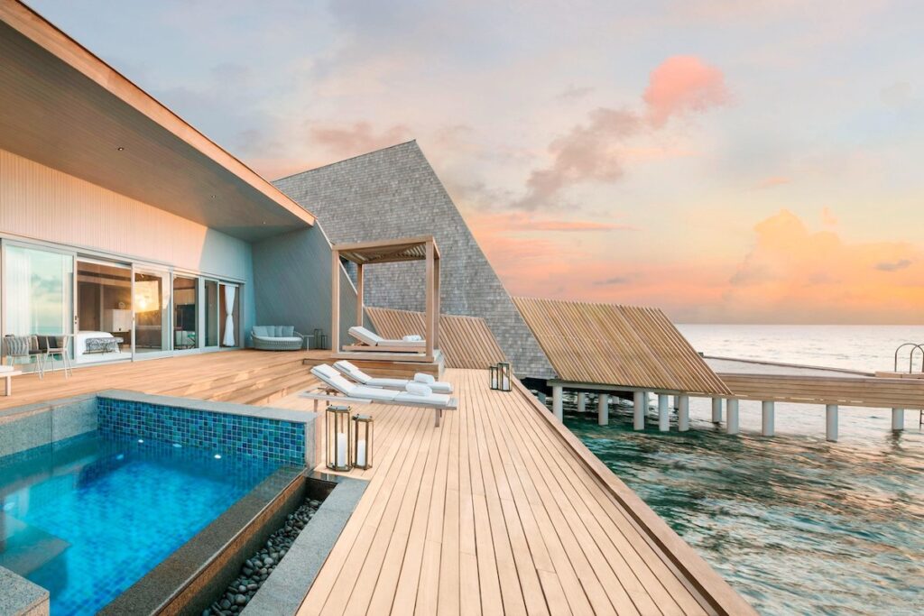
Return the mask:
[[354,407],[375,418],[374,467],[350,473],[370,484],[298,614],[753,613],[518,382],[445,378],[439,429]]

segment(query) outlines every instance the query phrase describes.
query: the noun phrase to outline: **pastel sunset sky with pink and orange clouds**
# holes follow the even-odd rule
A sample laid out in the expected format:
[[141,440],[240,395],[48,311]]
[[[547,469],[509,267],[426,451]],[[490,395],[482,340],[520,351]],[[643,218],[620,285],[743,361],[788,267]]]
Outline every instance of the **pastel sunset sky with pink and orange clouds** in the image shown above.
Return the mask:
[[918,2],[29,4],[269,179],[417,139],[513,294],[924,323]]

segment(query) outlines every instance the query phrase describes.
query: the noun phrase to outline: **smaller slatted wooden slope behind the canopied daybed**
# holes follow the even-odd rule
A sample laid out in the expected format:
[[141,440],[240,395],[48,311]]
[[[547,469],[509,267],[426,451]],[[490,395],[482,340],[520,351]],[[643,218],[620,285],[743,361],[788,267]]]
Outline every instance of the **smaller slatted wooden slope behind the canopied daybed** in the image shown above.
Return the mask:
[[[400,338],[426,331],[423,313],[391,308],[366,308],[375,331],[383,338]],[[488,368],[506,361],[487,323],[478,317],[440,315],[440,350],[446,368]]]

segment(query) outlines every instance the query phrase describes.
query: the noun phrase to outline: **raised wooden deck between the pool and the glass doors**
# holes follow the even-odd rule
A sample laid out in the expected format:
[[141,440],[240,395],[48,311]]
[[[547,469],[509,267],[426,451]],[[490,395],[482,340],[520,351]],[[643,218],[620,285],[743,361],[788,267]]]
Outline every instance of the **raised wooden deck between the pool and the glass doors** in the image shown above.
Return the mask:
[[0,410],[107,389],[267,404],[312,384],[315,379],[302,360],[329,354],[223,351],[74,368],[69,379],[60,369],[47,372],[44,379],[24,374],[13,378],[13,395],[0,396]]

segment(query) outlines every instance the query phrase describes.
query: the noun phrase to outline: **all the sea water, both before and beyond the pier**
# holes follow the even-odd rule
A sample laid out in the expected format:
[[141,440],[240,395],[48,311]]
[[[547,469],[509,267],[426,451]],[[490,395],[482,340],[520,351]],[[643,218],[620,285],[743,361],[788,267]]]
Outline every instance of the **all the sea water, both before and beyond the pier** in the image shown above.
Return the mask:
[[[898,344],[924,327],[683,325],[707,355],[892,369]],[[907,359],[905,360],[907,361]],[[916,360],[919,368],[919,359]],[[566,400],[571,402],[570,400]],[[776,405],[760,437],[760,403],[740,405],[742,433],[711,423],[691,399],[691,429],[632,430],[631,408],[565,424],[763,614],[924,613],[924,435],[918,411],[891,430],[888,409]]]

